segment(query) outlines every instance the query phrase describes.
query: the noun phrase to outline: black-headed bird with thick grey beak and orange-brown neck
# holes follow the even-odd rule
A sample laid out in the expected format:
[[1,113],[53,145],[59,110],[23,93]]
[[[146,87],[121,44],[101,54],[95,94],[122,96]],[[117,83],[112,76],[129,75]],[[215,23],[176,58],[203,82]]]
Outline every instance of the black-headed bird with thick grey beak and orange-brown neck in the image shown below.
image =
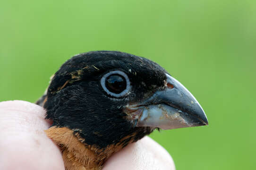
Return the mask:
[[154,129],[208,125],[196,98],[164,68],[120,51],[68,59],[36,104],[52,123],[45,133],[60,147],[66,170],[101,170]]

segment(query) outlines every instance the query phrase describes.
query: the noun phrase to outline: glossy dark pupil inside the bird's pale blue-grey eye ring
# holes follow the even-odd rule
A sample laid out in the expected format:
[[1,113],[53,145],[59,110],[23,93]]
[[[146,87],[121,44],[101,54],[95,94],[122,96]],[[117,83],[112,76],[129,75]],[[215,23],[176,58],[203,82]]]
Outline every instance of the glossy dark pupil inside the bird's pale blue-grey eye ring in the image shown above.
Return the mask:
[[112,93],[121,93],[126,89],[126,80],[123,76],[113,74],[106,78],[106,87]]

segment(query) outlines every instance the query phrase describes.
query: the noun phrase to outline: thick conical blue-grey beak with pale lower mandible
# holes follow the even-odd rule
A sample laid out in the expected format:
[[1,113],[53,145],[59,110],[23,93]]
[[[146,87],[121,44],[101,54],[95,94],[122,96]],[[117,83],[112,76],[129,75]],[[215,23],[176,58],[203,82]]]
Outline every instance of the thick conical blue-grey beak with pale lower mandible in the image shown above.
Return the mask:
[[157,91],[142,103],[128,106],[137,127],[174,129],[208,125],[196,98],[178,80],[167,75],[167,88]]

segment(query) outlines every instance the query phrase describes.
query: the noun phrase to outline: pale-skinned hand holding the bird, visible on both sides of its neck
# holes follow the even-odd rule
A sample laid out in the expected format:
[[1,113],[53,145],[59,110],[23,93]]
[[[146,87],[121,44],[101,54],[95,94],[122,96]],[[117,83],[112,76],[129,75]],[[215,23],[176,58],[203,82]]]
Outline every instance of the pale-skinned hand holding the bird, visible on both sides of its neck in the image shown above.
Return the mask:
[[[51,123],[42,107],[0,102],[0,170],[65,170],[61,153],[44,130]],[[115,153],[103,170],[175,170],[170,154],[149,137]]]

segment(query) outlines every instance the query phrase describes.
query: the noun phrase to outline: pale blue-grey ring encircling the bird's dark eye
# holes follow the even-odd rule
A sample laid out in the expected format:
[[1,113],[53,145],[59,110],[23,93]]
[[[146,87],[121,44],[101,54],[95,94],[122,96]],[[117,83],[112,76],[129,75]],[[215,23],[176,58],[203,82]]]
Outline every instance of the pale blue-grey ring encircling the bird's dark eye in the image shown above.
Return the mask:
[[[106,87],[106,78],[113,74],[123,76],[126,80],[126,89],[123,90],[121,93],[113,93],[113,92],[109,91],[109,89]],[[113,97],[122,97],[122,96],[126,95],[127,93],[129,93],[130,89],[131,89],[130,80],[129,80],[127,74],[120,70],[111,71],[111,72],[105,74],[104,76],[102,76],[101,85],[102,85],[102,88],[105,90],[105,92]]]

